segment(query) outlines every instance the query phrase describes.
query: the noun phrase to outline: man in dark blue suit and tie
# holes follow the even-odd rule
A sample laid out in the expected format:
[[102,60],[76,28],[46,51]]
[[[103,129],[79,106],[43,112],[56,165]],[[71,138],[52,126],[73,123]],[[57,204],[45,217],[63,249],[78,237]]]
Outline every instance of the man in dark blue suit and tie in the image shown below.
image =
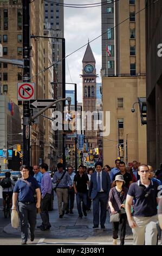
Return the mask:
[[[96,172],[91,175],[89,198],[93,199],[93,228],[105,229],[106,209],[111,181],[109,174],[102,171],[102,163],[95,163]],[[100,219],[99,219],[100,217]]]

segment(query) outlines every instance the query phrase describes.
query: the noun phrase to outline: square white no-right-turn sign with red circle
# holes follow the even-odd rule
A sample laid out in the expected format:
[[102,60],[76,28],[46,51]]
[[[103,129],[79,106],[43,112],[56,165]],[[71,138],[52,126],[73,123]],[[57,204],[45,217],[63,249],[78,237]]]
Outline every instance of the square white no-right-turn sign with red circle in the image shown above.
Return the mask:
[[17,100],[35,98],[35,83],[17,83]]

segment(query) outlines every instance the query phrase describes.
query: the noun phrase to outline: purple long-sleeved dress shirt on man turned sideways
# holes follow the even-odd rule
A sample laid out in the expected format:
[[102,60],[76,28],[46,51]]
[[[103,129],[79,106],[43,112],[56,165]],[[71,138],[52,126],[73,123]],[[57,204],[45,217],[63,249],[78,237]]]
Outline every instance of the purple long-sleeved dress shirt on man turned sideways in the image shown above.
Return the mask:
[[49,173],[45,172],[43,174],[43,178],[41,181],[41,193],[42,193],[42,198],[48,193],[51,194],[52,191],[52,181],[50,178]]

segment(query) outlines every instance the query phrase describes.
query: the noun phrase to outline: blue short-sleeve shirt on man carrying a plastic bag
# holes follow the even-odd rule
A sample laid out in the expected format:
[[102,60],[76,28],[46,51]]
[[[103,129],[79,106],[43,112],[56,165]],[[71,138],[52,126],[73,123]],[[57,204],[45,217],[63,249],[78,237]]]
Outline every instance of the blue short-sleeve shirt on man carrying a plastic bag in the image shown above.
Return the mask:
[[18,193],[19,202],[34,203],[35,202],[34,193],[35,193],[35,190],[39,188],[38,182],[32,176],[29,176],[29,178],[25,180],[28,181],[30,185],[28,185],[21,179],[17,180],[13,192]]

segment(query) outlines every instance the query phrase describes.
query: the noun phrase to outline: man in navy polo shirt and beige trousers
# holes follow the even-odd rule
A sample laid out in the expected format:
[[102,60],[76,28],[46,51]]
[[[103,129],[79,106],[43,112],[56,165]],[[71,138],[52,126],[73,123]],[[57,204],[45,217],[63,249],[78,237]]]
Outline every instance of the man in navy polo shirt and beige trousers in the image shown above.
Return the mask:
[[[149,179],[149,169],[146,164],[138,168],[140,180],[132,183],[126,198],[126,214],[129,226],[132,228],[133,245],[157,245],[157,205],[158,183]],[[131,215],[131,205],[134,203],[134,215]]]

